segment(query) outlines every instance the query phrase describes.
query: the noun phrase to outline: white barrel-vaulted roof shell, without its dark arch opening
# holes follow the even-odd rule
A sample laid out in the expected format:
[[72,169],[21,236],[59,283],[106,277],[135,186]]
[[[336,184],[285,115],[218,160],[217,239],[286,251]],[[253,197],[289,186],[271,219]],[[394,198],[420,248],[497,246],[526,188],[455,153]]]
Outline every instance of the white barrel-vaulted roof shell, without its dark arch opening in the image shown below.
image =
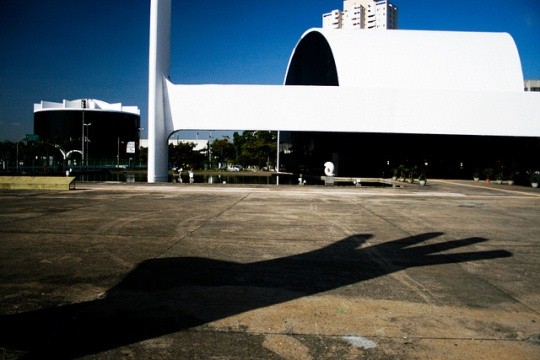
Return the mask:
[[[523,91],[523,71],[508,33],[312,28],[328,42],[340,86]],[[285,78],[287,74],[285,75]]]

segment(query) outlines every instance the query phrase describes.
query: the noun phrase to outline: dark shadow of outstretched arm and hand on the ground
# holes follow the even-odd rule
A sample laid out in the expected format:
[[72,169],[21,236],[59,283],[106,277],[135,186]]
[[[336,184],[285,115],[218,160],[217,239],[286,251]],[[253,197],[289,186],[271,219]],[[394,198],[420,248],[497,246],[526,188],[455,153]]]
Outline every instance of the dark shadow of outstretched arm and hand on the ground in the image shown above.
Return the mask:
[[[241,264],[179,257],[142,262],[103,299],[0,316],[0,347],[71,358],[180,331],[399,270],[511,256],[505,250],[441,254],[487,241],[421,245],[425,233],[361,247],[356,235],[324,248]],[[195,309],[195,310],[194,310]]]

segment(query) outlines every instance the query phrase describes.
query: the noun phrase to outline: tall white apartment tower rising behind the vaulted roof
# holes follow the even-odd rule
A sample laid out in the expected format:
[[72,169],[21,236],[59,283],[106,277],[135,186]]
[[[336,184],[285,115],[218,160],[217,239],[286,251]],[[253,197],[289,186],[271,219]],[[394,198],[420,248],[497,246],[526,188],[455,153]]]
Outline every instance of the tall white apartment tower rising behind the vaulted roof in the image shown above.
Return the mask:
[[398,10],[386,0],[344,0],[343,11],[322,15],[326,29],[397,29]]

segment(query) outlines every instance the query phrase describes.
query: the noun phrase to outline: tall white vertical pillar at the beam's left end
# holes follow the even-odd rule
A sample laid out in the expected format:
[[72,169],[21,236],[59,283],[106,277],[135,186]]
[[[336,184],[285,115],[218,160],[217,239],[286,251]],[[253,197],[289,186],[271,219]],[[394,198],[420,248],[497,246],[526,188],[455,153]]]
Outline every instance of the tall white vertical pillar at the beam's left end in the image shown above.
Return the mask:
[[148,66],[148,182],[168,180],[163,79],[169,77],[171,0],[152,0]]

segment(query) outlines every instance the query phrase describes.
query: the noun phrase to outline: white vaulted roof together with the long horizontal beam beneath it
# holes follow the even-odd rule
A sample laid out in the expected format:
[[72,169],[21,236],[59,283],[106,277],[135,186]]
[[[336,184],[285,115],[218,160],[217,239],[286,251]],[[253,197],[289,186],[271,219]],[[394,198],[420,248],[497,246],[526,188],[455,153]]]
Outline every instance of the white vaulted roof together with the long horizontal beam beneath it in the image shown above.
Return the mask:
[[311,29],[293,50],[288,86],[164,82],[168,133],[540,135],[540,94],[524,92],[505,33]]

